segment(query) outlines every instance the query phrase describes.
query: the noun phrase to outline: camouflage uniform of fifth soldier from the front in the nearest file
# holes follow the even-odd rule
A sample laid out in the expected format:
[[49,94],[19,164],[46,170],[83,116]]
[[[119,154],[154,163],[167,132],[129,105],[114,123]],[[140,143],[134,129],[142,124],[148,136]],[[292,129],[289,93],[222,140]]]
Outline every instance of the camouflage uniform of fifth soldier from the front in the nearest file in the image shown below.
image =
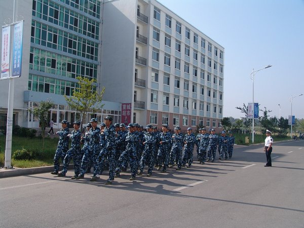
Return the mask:
[[[176,159],[177,168],[181,168],[181,156],[182,156],[182,147],[183,147],[183,138],[184,135],[182,132],[179,134],[173,134],[172,138],[173,145],[170,152],[170,164],[174,164],[174,158]],[[172,137],[173,137],[172,136]]]

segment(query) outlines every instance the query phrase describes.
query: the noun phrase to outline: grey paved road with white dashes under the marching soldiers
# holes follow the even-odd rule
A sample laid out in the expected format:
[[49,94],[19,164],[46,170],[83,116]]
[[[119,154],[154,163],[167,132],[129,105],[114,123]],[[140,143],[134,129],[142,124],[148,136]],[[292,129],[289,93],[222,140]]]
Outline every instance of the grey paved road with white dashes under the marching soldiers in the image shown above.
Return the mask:
[[304,140],[275,143],[273,167],[262,150],[109,186],[71,171],[2,178],[0,227],[304,227]]

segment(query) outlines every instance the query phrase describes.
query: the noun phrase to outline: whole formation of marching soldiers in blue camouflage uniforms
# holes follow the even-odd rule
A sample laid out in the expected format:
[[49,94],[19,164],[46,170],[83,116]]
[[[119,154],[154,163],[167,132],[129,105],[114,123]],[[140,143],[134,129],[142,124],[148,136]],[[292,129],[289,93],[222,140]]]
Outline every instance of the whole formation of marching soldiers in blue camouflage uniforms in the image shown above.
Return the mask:
[[[146,176],[151,176],[154,167],[161,172],[167,172],[167,168],[176,166],[176,170],[182,167],[189,168],[193,163],[194,146],[197,146],[197,159],[200,164],[214,162],[216,149],[218,149],[219,160],[231,159],[235,137],[232,132],[221,132],[221,136],[215,134],[214,129],[200,128],[195,135],[192,128],[187,128],[183,134],[181,128],[176,126],[174,133],[169,131],[169,126],[164,124],[162,131],[157,127],[147,125],[145,131],[143,126],[130,123],[112,125],[110,116],[104,118],[104,123],[97,126],[97,119],[91,119],[87,124],[87,131],[82,136],[79,128],[81,123],[73,123],[74,130],[69,133],[67,121],[61,122],[62,129],[59,142],[54,156],[54,171],[57,176],[65,176],[71,159],[73,159],[74,176],[72,179],[83,179],[85,173],[91,171],[93,166],[93,177],[90,181],[97,181],[108,166],[109,176],[105,184],[112,184],[114,178],[119,178],[122,171],[126,172],[130,165],[131,177],[135,180],[136,175],[143,175],[147,166]],[[127,130],[128,129],[128,130]],[[69,139],[71,147],[68,149]],[[83,147],[81,148],[81,144]],[[63,162],[62,171],[59,172],[59,160]]]

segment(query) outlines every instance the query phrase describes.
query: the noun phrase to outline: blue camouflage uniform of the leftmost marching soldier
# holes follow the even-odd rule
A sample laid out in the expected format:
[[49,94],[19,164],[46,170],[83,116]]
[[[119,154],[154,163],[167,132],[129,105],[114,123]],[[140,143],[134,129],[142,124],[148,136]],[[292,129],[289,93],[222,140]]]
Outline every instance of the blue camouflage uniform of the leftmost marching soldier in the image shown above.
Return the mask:
[[68,142],[69,139],[67,137],[68,135],[68,128],[62,128],[60,131],[58,131],[56,134],[59,135],[59,141],[58,141],[58,145],[57,145],[57,149],[55,152],[55,156],[54,156],[54,172],[58,173],[59,171],[59,167],[60,167],[60,163],[59,163],[59,159],[61,158],[61,161],[63,163],[64,157],[66,155],[66,151],[68,150]]

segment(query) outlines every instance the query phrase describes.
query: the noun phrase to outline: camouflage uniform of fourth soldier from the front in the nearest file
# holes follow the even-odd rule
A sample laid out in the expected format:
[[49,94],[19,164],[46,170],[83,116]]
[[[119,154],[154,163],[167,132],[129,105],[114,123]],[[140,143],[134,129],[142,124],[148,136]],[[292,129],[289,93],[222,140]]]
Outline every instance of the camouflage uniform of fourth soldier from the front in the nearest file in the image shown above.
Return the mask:
[[164,162],[163,172],[166,172],[167,167],[169,165],[169,156],[170,156],[170,149],[171,149],[171,134],[169,132],[161,132],[160,133],[160,141],[162,144],[160,144],[157,159],[159,162],[159,167],[162,165],[162,162]]

